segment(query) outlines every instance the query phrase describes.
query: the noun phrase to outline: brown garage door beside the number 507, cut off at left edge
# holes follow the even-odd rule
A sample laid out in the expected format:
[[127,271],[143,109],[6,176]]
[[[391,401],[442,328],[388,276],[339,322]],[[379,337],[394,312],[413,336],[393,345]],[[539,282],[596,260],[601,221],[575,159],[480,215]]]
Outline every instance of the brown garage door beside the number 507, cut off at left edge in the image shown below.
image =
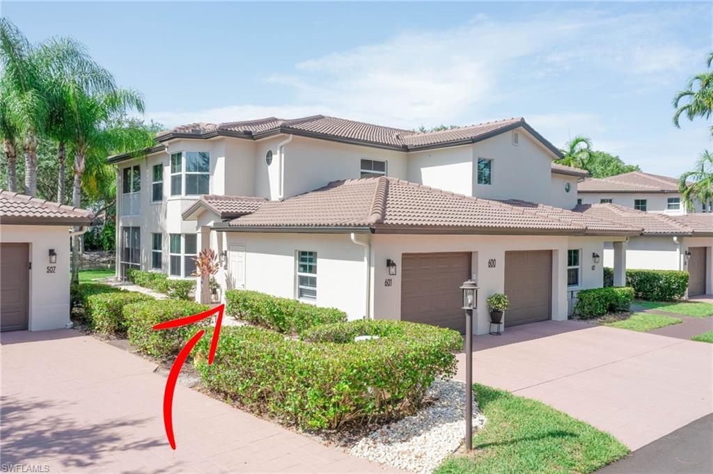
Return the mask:
[[0,331],[27,329],[29,244],[0,244]]

